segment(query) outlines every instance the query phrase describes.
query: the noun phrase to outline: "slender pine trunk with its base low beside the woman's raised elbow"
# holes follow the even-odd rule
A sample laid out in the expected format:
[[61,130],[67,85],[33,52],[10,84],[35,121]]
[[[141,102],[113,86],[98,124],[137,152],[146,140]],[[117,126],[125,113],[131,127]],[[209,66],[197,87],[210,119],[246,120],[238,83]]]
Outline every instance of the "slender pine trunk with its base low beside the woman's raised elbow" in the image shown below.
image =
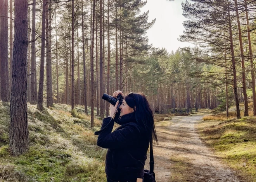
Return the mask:
[[94,126],[94,71],[93,71],[93,48],[94,48],[94,24],[95,24],[95,0],[93,0],[93,15],[92,15],[92,44],[91,44],[91,127]]

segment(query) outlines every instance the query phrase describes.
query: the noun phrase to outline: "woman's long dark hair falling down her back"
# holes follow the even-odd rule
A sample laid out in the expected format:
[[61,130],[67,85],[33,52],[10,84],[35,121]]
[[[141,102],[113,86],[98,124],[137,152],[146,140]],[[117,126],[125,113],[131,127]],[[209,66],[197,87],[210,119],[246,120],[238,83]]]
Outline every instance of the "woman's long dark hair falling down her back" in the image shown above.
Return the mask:
[[154,124],[154,115],[146,96],[142,93],[132,93],[125,96],[125,101],[131,103],[135,101],[135,118],[136,121],[141,124],[141,126],[149,131],[149,138],[156,141],[158,144],[156,136],[156,128]]

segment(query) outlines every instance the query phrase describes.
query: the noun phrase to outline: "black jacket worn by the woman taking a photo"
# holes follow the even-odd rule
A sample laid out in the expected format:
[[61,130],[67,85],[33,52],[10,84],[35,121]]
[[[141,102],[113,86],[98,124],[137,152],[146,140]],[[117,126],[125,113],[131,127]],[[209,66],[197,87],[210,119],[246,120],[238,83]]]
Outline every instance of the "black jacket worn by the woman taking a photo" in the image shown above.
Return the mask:
[[[114,120],[121,126],[111,133]],[[103,120],[102,128],[110,124],[97,141],[100,147],[108,148],[105,172],[112,180],[143,178],[149,133],[137,123],[135,112],[120,118],[117,114],[114,120],[111,117]]]

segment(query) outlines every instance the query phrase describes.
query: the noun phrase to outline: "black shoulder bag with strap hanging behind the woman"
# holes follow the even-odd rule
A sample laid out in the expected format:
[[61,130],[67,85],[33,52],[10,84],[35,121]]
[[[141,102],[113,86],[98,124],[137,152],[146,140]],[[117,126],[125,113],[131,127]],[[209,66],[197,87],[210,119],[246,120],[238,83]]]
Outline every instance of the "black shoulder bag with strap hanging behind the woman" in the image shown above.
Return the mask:
[[150,139],[150,162],[149,162],[149,170],[144,169],[144,182],[156,182],[156,177],[154,173],[154,155],[153,155],[153,144]]

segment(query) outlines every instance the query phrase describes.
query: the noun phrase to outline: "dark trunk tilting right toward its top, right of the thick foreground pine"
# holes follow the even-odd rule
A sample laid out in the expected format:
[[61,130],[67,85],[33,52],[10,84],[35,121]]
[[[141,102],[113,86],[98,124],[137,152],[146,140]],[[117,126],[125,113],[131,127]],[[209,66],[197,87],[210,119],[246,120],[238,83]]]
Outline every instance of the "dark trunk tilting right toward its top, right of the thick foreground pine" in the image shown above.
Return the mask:
[[40,61],[40,77],[37,109],[43,111],[43,80],[45,71],[45,16],[46,16],[46,0],[43,0],[42,12],[42,36],[41,36],[41,61]]

